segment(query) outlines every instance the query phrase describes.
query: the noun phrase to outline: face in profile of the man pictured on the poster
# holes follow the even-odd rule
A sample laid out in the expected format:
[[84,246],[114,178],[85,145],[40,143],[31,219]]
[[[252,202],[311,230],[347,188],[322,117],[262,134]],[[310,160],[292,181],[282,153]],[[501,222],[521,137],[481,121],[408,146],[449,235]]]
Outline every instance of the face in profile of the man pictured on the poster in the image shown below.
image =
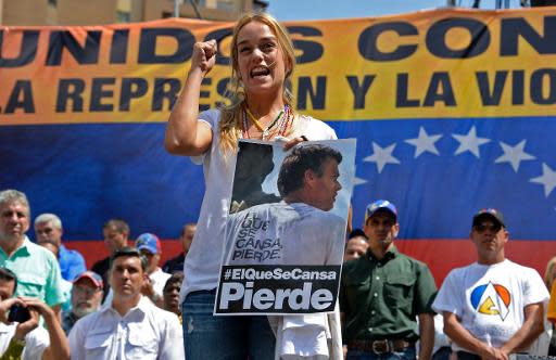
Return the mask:
[[[338,169],[338,162],[329,158],[323,163],[323,176],[313,179],[312,200],[313,206],[325,211],[329,211],[334,207],[336,196],[342,189],[338,181],[340,171]],[[311,171],[311,170],[309,170]]]

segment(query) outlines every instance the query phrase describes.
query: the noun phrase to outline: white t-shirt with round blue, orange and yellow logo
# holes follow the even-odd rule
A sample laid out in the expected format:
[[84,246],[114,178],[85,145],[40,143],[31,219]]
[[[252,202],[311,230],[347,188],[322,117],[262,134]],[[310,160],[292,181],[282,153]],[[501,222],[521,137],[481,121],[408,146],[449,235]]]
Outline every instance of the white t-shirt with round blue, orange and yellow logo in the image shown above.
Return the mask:
[[[452,270],[432,308],[456,314],[475,337],[498,348],[523,324],[526,306],[547,300],[548,292],[539,273],[506,259]],[[455,343],[452,349],[469,351]]]

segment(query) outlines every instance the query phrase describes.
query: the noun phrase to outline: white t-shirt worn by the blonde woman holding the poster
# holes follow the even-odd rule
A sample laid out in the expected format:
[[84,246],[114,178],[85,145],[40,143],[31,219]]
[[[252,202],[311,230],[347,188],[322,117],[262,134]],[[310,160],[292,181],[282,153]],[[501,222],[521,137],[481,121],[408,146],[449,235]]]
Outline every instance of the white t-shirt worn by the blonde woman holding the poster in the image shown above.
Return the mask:
[[[181,286],[180,303],[191,292],[214,290],[217,286],[236,165],[236,154],[224,155],[220,152],[218,131],[220,111],[203,112],[199,118],[212,129],[213,141],[206,153],[192,158],[195,164],[203,165],[206,191],[193,243],[184,263],[186,277]],[[295,118],[295,131],[291,137],[300,136],[305,136],[308,140],[337,139],[332,128],[307,116]]]

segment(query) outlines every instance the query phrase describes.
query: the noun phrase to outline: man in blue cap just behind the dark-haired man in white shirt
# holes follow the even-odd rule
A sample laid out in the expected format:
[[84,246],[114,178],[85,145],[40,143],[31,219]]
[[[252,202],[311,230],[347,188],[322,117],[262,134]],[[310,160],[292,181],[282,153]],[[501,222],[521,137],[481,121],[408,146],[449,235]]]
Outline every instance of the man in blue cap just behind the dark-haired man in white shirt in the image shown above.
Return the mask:
[[135,247],[147,258],[147,274],[149,280],[143,286],[143,295],[148,296],[160,307],[164,306],[163,288],[172,274],[162,271],[159,267],[162,247],[159,236],[144,233],[140,234],[135,242]]

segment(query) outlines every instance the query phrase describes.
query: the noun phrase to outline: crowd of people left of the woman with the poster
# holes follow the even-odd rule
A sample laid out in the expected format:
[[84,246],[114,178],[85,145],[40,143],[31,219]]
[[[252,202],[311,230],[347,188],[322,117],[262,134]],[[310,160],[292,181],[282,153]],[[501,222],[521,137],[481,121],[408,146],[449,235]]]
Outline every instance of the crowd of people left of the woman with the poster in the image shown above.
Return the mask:
[[[29,227],[27,196],[0,191],[0,359],[184,359],[184,274],[159,267],[156,235],[141,234],[131,247],[129,226],[109,220],[111,256],[91,271],[62,244],[58,216],[36,218],[35,241],[26,235]],[[182,256],[191,229],[184,227]]]

